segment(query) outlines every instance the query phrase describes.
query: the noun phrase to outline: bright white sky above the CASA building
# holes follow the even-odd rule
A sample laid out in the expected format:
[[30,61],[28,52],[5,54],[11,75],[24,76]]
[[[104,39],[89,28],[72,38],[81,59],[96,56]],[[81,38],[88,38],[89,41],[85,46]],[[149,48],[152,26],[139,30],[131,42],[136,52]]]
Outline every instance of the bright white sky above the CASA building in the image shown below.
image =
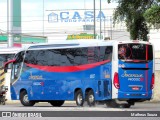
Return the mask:
[[[96,9],[99,9],[99,0],[96,1]],[[103,8],[114,8],[117,4],[107,4],[107,0],[102,1]],[[44,6],[43,6],[44,3]],[[42,24],[43,15],[48,10],[64,9],[93,9],[93,0],[21,0],[22,27],[23,29],[32,28],[33,25],[25,25],[37,21]],[[40,25],[34,24],[35,27]],[[6,31],[7,26],[7,0],[0,0],[0,29]],[[38,27],[39,29],[39,27]]]

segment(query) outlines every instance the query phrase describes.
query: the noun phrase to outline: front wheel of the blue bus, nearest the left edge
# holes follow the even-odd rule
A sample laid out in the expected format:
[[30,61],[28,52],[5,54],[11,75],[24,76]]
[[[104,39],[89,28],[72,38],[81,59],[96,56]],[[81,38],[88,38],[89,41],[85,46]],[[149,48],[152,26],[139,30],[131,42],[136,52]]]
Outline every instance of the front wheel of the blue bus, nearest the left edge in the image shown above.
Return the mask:
[[34,101],[28,100],[28,94],[24,90],[20,93],[20,101],[24,106],[33,106],[35,104]]

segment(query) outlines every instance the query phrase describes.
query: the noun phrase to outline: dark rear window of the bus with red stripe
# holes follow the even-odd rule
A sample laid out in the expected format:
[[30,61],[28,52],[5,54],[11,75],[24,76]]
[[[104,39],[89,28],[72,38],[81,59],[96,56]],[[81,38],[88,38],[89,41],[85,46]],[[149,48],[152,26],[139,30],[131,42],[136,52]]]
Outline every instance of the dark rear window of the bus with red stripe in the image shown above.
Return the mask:
[[146,44],[119,44],[118,45],[118,59],[123,61],[148,61],[153,60],[152,45]]

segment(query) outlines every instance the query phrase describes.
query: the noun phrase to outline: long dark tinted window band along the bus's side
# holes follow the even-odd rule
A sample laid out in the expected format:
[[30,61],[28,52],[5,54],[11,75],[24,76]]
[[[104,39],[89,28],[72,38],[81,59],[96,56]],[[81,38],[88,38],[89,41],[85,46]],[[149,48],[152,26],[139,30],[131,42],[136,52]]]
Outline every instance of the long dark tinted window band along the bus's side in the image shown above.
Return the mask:
[[76,66],[112,59],[112,47],[27,51],[25,62],[44,66]]

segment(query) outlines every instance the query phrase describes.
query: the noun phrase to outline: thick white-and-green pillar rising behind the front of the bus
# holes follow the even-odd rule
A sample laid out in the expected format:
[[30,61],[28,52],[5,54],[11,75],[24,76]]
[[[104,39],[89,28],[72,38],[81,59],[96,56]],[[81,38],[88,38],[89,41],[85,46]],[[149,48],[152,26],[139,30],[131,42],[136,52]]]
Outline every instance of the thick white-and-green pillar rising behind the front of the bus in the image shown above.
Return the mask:
[[21,0],[7,0],[8,47],[21,45]]

